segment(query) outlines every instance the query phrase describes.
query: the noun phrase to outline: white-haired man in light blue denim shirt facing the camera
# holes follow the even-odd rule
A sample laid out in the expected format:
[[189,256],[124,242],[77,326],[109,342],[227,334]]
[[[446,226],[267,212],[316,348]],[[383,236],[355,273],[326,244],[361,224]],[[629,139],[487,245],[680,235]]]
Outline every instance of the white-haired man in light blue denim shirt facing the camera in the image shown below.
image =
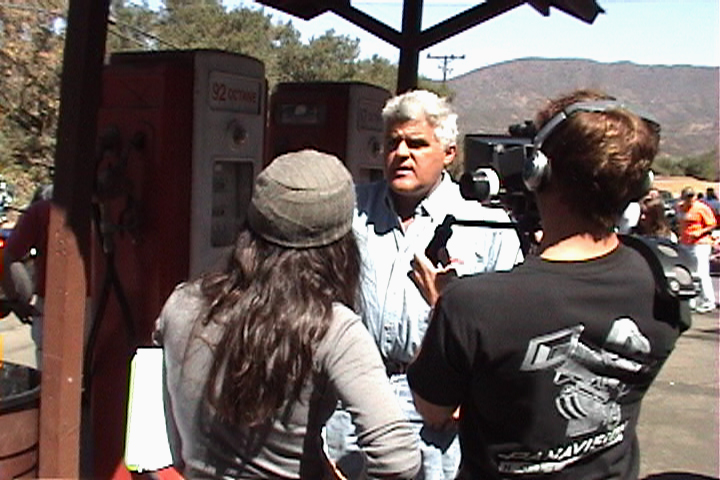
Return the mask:
[[[457,154],[457,115],[445,99],[417,90],[391,98],[382,117],[385,125],[385,178],[357,187],[353,228],[363,253],[362,318],[385,362],[402,408],[418,432],[423,452],[419,478],[455,478],[459,463],[456,432],[433,430],[415,410],[405,370],[428,326],[437,291],[423,295],[411,263],[422,253],[435,229],[452,214],[462,220],[508,222],[502,209],[462,198],[446,168]],[[439,290],[451,270],[457,275],[508,270],[522,258],[512,229],[463,228],[447,243],[443,265],[422,281]],[[426,298],[427,297],[427,298]],[[339,411],[327,429],[331,458],[344,473],[357,477],[348,445],[352,412]],[[357,439],[360,443],[362,438]],[[355,456],[357,460],[357,456]]]

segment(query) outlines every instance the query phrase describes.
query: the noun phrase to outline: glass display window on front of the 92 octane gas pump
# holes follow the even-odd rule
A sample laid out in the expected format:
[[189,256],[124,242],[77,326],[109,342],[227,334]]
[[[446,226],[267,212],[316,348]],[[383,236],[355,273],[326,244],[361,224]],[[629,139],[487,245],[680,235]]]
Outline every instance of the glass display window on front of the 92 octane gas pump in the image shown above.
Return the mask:
[[254,178],[252,161],[216,160],[213,164],[210,245],[231,246],[245,223]]

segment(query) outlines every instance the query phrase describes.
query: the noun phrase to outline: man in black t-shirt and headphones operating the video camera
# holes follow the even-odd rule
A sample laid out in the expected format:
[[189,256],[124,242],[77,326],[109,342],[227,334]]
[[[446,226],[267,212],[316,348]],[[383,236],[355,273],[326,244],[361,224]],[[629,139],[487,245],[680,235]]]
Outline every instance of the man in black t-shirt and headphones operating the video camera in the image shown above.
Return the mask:
[[647,183],[659,125],[589,90],[536,123],[539,256],[449,285],[408,380],[436,428],[460,409],[459,479],[637,478],[640,402],[680,330],[656,318],[649,264],[614,226]]

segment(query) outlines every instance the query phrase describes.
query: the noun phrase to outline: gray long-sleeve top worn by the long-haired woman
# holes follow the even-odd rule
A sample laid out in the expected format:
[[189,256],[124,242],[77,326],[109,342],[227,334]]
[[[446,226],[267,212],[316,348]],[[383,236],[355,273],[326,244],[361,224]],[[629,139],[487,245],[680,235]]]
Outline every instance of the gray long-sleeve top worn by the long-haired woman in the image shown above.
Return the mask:
[[186,478],[323,478],[327,463],[320,432],[338,400],[357,424],[368,474],[413,478],[420,465],[417,439],[396,403],[377,347],[355,313],[334,306],[300,401],[259,433],[214,418],[204,399],[209,345],[221,332],[212,324],[192,332],[203,302],[197,283],[181,284],[163,307],[155,332],[165,351],[173,459]]

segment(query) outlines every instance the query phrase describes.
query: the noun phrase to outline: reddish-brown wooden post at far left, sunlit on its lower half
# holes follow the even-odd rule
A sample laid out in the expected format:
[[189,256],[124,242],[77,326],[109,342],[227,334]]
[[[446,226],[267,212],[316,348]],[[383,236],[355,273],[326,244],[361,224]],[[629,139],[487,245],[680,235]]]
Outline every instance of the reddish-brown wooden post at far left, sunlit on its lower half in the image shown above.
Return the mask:
[[70,0],[50,214],[40,403],[40,477],[80,478],[86,272],[109,0]]

